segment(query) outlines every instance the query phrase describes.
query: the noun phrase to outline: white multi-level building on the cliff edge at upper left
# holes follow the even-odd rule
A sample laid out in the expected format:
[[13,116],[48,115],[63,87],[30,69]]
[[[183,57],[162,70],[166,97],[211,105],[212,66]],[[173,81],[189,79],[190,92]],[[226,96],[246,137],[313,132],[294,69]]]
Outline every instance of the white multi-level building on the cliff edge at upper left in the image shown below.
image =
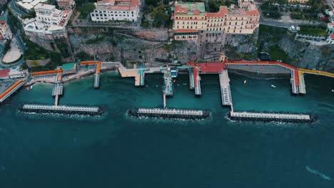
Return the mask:
[[35,6],[36,20],[24,26],[27,36],[36,36],[47,40],[67,38],[66,24],[71,16],[71,11],[61,11],[56,6],[38,4]]

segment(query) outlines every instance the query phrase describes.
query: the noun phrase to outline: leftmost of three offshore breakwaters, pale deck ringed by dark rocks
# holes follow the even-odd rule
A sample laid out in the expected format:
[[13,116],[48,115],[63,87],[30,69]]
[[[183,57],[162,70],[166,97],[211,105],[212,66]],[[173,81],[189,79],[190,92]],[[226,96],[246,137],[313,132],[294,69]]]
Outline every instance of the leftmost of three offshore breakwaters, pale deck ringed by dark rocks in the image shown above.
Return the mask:
[[99,107],[68,106],[68,105],[37,105],[24,104],[19,108],[24,113],[61,113],[79,115],[101,115],[102,109]]

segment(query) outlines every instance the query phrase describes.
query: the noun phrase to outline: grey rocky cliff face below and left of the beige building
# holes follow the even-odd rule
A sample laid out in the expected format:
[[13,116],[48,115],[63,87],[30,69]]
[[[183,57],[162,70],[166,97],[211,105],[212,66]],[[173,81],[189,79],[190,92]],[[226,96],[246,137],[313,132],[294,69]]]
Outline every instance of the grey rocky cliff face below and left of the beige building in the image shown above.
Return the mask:
[[[146,32],[140,31],[135,34],[141,36]],[[154,37],[153,35],[146,35],[144,38],[149,37],[150,41],[148,41],[118,32],[113,33],[113,35],[70,34],[69,40],[74,48],[74,54],[83,51],[90,56],[98,56],[102,61],[156,61],[171,63],[178,60],[187,63],[194,57],[196,58],[196,47],[193,47],[196,46],[195,43],[168,43],[166,38],[160,38],[160,35],[161,33],[154,35]],[[103,39],[94,41],[94,38],[97,37]],[[160,38],[161,41],[155,40],[156,37]]]

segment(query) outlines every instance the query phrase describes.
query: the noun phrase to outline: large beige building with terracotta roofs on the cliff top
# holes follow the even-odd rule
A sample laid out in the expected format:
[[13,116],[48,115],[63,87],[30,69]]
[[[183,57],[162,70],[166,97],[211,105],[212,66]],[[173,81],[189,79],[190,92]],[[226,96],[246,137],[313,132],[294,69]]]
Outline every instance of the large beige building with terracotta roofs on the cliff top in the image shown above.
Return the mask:
[[[207,13],[204,3],[178,3],[174,9],[175,40],[197,40],[198,35],[221,33],[252,34],[259,26],[260,13],[253,2],[240,1],[239,7],[221,6],[216,13]],[[197,33],[197,35],[196,35]]]

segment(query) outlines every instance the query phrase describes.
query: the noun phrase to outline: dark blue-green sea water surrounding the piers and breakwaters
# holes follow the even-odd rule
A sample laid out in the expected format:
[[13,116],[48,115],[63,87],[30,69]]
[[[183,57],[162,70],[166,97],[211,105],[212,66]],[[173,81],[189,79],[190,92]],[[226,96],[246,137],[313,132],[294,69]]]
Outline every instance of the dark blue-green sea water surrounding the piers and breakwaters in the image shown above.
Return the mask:
[[162,104],[161,75],[147,75],[145,88],[115,74],[103,74],[99,90],[93,78],[67,83],[60,103],[104,105],[100,120],[17,114],[21,103],[54,103],[51,85],[36,85],[0,107],[0,187],[334,187],[306,169],[334,178],[333,79],[308,75],[307,94],[293,97],[288,79],[230,78],[235,110],[311,112],[319,120],[230,122],[218,75],[202,76],[201,98],[181,75],[167,100],[171,108],[210,109],[202,122],[126,117],[129,108]]

